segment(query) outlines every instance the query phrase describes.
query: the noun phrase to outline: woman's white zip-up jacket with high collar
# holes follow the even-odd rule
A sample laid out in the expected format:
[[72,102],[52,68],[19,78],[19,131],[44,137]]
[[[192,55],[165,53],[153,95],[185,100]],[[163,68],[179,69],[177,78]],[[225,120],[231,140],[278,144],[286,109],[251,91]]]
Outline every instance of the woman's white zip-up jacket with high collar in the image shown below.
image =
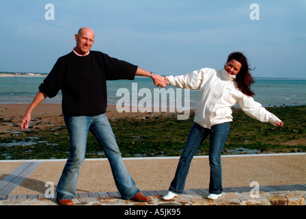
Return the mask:
[[253,97],[243,94],[236,87],[236,76],[226,70],[202,68],[181,76],[167,76],[169,84],[178,88],[199,90],[199,102],[195,107],[195,123],[208,128],[231,122],[231,107],[238,103],[251,118],[275,125],[279,118],[268,112]]

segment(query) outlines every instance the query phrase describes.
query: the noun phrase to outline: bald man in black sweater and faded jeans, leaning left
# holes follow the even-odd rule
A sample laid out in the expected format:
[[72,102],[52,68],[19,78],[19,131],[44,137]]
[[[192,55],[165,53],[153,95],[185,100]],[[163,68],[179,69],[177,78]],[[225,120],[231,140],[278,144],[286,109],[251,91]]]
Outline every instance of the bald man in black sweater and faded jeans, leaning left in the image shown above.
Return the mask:
[[113,179],[122,198],[133,201],[151,201],[143,196],[128,174],[117,146],[113,130],[105,115],[107,110],[107,80],[130,79],[135,75],[150,77],[156,86],[165,87],[167,79],[137,66],[117,60],[100,51],[91,51],[94,31],[88,27],[79,29],[74,39],[74,49],[59,57],[53,69],[33,99],[21,120],[25,130],[31,120],[31,112],[46,97],[53,98],[59,90],[62,93],[62,112],[70,136],[70,158],[67,160],[57,185],[57,202],[73,205],[72,198],[77,189],[79,170],[86,153],[88,131],[105,151],[111,164]]

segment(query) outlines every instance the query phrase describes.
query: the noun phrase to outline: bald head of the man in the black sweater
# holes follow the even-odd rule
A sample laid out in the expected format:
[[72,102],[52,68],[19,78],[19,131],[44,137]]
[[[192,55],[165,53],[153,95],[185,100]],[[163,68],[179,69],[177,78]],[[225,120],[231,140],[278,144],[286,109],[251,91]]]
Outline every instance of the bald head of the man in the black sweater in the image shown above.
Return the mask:
[[74,36],[77,41],[76,52],[80,55],[86,55],[94,44],[94,31],[92,29],[83,29],[81,33]]

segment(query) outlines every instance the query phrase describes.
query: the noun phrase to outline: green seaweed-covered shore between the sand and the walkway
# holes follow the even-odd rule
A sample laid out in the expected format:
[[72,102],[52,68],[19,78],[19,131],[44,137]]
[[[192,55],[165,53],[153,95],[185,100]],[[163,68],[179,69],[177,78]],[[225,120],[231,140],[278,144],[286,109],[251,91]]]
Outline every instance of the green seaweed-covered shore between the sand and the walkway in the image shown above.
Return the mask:
[[[274,127],[260,123],[240,109],[233,109],[234,121],[223,148],[223,155],[234,149],[257,150],[258,153],[305,152],[306,106],[269,107],[284,123]],[[132,113],[131,113],[132,114]],[[150,118],[109,118],[122,157],[180,156],[189,130],[193,125],[193,112],[188,120],[178,120],[177,114],[165,113]],[[3,133],[2,133],[3,134]],[[0,133],[1,136],[1,133]],[[10,142],[22,142],[5,146]],[[38,129],[32,127],[20,134],[10,133],[0,138],[0,159],[67,159],[69,136],[66,127]],[[27,144],[28,143],[28,144]],[[199,147],[196,155],[208,155],[209,140]],[[230,153],[233,154],[233,153]],[[102,147],[89,133],[86,158],[105,158]]]

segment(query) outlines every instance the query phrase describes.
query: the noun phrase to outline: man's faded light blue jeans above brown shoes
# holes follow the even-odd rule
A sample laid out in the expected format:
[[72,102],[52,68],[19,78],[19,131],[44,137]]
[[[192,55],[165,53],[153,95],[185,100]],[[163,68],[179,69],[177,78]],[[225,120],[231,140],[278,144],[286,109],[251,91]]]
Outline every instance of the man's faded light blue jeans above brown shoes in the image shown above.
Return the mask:
[[107,116],[64,116],[64,119],[70,136],[70,158],[57,185],[57,198],[72,199],[75,195],[79,171],[85,159],[88,131],[92,132],[105,151],[122,198],[133,198],[139,189],[126,170]]

